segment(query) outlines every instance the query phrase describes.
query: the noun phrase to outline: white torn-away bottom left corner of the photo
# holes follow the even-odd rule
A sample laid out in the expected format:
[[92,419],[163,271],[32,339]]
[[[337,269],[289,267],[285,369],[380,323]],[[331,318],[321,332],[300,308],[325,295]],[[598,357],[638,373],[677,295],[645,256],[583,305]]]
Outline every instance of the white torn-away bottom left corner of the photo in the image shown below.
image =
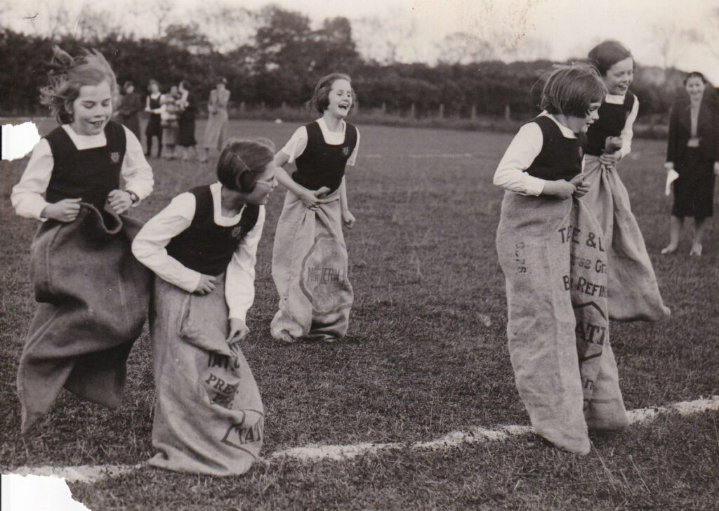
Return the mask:
[[73,499],[65,479],[57,476],[2,474],[0,509],[6,511],[91,511]]

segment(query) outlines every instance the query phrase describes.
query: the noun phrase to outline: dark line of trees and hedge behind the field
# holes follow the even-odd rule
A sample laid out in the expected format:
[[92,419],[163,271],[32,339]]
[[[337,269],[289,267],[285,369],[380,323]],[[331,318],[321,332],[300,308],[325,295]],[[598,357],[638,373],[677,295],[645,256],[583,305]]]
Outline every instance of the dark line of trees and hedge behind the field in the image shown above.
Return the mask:
[[[363,58],[347,18],[325,19],[313,29],[301,13],[271,6],[257,18],[254,37],[232,50],[220,51],[196,24],[171,24],[160,37],[135,38],[120,32],[86,35],[29,35],[0,28],[0,110],[4,114],[42,114],[38,89],[45,84],[52,45],[78,52],[103,52],[119,83],[132,80],[140,93],[154,78],[163,86],[187,79],[202,101],[216,79],[224,76],[239,105],[267,108],[300,106],[321,75],[338,71],[352,76],[360,109],[390,114],[411,111],[418,118],[505,116],[536,113],[548,60],[505,63],[499,60],[460,63],[378,63]],[[479,55],[479,54],[477,54]],[[640,116],[663,121],[682,73],[638,65],[632,90],[641,103]]]

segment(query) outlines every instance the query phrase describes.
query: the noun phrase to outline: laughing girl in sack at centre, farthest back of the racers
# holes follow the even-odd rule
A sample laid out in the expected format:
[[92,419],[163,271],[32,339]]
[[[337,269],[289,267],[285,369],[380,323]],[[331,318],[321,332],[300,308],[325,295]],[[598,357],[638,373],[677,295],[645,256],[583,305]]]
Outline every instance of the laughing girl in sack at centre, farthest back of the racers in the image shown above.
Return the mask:
[[297,166],[292,177],[278,170],[288,191],[273,247],[280,304],[270,331],[281,341],[332,342],[347,333],[354,294],[342,224],[352,228],[354,216],[347,206],[344,168],[357,160],[359,132],[344,118],[355,101],[349,76],[321,78],[309,101],[321,118],[298,128],[275,155],[278,167]]

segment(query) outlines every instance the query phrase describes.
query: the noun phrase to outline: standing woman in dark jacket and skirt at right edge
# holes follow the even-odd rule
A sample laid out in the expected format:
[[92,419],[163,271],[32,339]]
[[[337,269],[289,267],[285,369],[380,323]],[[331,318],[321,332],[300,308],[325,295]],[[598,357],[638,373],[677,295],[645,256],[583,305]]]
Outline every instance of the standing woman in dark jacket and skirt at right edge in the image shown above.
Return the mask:
[[687,97],[677,100],[669,118],[667,172],[675,170],[674,206],[670,240],[662,254],[679,246],[684,216],[694,217],[695,232],[690,255],[702,254],[706,219],[713,214],[714,181],[719,174],[719,110],[715,91],[702,73],[689,73],[684,79]]

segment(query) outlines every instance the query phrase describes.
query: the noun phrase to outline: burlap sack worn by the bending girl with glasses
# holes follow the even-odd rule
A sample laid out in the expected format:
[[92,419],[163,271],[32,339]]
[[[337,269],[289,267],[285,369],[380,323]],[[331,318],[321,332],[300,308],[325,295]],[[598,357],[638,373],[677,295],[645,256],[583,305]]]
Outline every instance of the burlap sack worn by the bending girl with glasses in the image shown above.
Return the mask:
[[150,464],[196,474],[244,474],[262,447],[265,410],[239,347],[230,349],[224,275],[209,295],[155,277],[150,314],[157,402]]

